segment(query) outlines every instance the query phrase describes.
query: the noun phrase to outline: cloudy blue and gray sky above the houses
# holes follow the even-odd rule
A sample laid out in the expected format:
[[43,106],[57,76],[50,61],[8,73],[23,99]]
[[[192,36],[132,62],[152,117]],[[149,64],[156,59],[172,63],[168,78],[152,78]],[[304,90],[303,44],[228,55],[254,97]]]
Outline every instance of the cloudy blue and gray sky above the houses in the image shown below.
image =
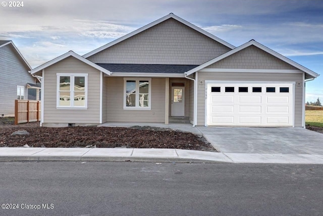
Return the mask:
[[[6,4],[5,4],[5,3]],[[323,102],[321,0],[26,0],[0,7],[0,40],[32,68],[70,50],[84,55],[170,13],[235,47],[251,39],[321,74],[305,101]],[[4,5],[6,5],[4,7]]]

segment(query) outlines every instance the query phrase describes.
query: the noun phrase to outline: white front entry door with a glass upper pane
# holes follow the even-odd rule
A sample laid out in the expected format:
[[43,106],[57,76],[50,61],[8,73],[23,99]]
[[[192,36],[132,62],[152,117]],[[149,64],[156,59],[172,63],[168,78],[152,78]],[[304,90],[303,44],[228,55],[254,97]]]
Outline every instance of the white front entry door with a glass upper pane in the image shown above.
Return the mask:
[[172,116],[184,116],[184,91],[185,87],[172,87]]

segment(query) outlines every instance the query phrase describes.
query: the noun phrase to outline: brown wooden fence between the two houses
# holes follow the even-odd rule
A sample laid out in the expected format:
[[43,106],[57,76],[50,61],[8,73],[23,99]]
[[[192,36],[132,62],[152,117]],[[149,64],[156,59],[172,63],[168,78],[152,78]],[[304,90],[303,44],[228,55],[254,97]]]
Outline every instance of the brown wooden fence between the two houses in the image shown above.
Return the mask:
[[40,121],[40,107],[40,101],[15,100],[15,124]]

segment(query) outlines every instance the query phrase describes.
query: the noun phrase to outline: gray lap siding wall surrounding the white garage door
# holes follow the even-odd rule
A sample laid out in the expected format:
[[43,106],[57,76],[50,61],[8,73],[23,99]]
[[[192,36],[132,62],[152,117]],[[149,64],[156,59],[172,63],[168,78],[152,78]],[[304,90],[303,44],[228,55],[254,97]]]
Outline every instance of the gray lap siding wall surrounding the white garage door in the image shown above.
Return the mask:
[[[302,83],[301,73],[227,73],[227,72],[198,72],[197,90],[197,124],[205,124],[205,80],[241,80],[241,81],[296,81]],[[302,126],[303,88],[295,86],[295,126]]]

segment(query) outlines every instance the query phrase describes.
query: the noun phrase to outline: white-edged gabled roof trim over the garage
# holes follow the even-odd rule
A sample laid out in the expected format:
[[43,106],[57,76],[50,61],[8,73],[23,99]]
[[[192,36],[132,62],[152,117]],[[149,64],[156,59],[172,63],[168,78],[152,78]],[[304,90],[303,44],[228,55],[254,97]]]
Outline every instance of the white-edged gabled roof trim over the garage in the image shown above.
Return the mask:
[[312,76],[314,78],[319,76],[319,74],[317,74],[317,73],[311,71],[310,69],[308,69],[308,68],[306,68],[306,67],[304,67],[304,66],[302,66],[302,65],[300,65],[300,64],[298,64],[298,63],[296,63],[296,62],[294,62],[292,60],[290,60],[289,58],[287,58],[287,57],[285,57],[285,56],[283,56],[283,55],[281,55],[281,54],[279,54],[279,53],[277,53],[277,52],[275,52],[275,51],[273,51],[273,50],[271,50],[271,49],[269,49],[269,48],[267,48],[267,47],[265,47],[265,46],[263,46],[261,44],[259,44],[255,40],[250,40],[249,42],[246,42],[245,44],[241,45],[240,47],[237,47],[237,48],[235,48],[235,49],[233,49],[233,50],[231,50],[231,51],[229,51],[229,52],[227,52],[225,54],[222,54],[221,56],[218,56],[217,58],[214,58],[214,59],[212,59],[212,60],[210,60],[208,62],[205,62],[204,64],[201,64],[201,65],[197,66],[196,68],[193,68],[193,69],[187,71],[186,75],[190,75],[192,73],[195,73],[196,71],[199,71],[199,70],[201,70],[201,69],[203,69],[203,68],[205,68],[205,67],[207,67],[207,66],[209,66],[209,65],[211,65],[213,63],[216,63],[216,62],[218,62],[218,61],[220,61],[220,60],[222,60],[222,59],[224,59],[224,58],[226,58],[228,56],[231,56],[231,55],[233,55],[233,54],[235,54],[235,53],[237,53],[237,52],[239,52],[239,51],[241,51],[241,50],[243,50],[243,49],[245,49],[245,48],[247,48],[247,47],[249,47],[251,45],[253,45],[253,46],[255,46],[255,47],[257,47],[257,48],[259,48],[259,49],[261,49],[261,50],[263,50],[263,51],[265,51],[265,52],[267,52],[267,53],[269,53],[269,54],[271,54],[271,55],[273,55],[273,56],[275,56],[277,58],[279,58],[280,60],[282,60],[282,61],[284,61],[284,62],[286,62],[286,63],[288,63],[288,64],[290,64],[290,65],[292,65],[294,67],[296,67],[297,69],[299,69],[301,71],[304,71],[305,73],[309,74],[310,76]]

